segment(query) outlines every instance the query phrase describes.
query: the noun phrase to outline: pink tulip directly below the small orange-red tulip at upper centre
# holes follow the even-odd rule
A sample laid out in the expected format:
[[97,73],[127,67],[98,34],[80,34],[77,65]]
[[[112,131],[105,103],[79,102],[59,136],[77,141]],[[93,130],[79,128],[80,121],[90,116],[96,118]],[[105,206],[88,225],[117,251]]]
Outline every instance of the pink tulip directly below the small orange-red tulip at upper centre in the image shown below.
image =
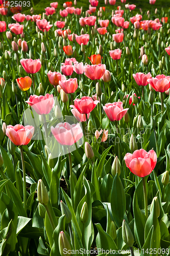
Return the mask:
[[99,80],[105,74],[106,65],[98,64],[98,65],[85,65],[84,66],[84,74],[90,78],[91,80]]

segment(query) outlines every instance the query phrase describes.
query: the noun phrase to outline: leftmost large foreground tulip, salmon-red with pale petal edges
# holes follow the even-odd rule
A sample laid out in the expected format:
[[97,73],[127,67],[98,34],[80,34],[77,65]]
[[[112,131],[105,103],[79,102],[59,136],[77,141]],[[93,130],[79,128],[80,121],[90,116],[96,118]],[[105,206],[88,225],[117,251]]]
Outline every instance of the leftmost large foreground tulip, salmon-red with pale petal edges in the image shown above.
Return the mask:
[[33,134],[34,127],[31,125],[8,125],[6,129],[6,135],[16,146],[27,145],[32,139]]

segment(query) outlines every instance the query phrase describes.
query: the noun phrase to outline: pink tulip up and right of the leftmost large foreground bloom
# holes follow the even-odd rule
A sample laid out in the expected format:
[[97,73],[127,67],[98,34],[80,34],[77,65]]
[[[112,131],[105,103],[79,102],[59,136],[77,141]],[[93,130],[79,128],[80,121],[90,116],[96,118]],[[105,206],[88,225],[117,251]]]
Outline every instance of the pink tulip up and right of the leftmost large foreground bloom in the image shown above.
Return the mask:
[[38,115],[47,115],[55,105],[53,94],[45,94],[45,96],[31,95],[26,101]]

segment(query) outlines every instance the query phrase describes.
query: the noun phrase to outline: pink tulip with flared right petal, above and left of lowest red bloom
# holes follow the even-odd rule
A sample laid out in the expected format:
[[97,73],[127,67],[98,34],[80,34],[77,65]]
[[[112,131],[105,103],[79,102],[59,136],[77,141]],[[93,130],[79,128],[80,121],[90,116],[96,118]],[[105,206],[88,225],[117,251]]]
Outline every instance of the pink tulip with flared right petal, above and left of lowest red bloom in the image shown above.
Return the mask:
[[129,109],[123,108],[123,102],[107,103],[103,109],[110,121],[119,121],[122,119]]

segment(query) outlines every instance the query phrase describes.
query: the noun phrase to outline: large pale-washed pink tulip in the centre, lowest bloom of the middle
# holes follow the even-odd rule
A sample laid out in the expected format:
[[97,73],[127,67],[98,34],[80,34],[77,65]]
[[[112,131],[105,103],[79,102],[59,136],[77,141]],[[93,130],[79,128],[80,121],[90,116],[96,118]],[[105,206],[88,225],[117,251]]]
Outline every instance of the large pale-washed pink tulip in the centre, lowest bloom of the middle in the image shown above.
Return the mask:
[[55,127],[51,126],[51,132],[61,145],[73,145],[83,137],[80,123],[69,124],[67,122],[58,123]]

